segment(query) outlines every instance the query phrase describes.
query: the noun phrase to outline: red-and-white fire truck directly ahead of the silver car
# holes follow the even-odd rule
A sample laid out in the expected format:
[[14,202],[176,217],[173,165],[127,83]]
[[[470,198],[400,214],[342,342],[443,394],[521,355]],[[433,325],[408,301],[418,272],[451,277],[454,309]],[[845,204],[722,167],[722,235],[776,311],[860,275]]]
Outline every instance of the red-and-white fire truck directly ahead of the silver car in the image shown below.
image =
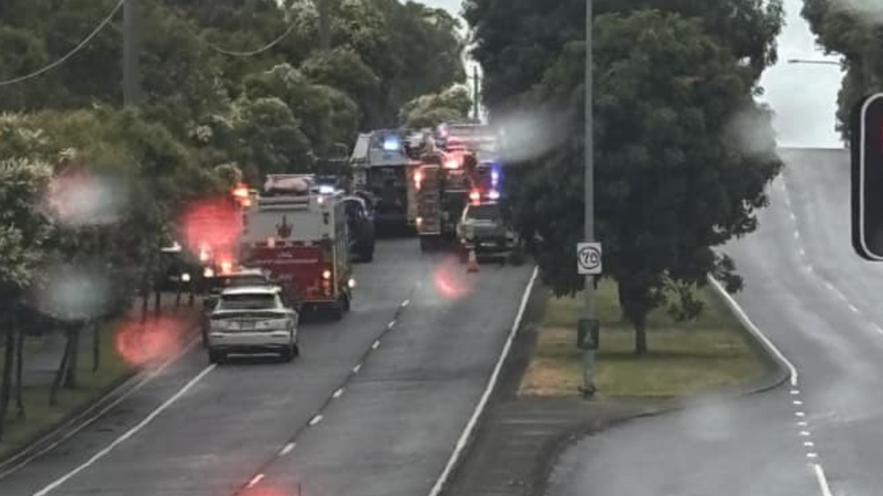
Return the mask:
[[269,175],[245,209],[239,260],[261,268],[301,307],[350,310],[350,242],[341,192],[321,192],[308,175]]

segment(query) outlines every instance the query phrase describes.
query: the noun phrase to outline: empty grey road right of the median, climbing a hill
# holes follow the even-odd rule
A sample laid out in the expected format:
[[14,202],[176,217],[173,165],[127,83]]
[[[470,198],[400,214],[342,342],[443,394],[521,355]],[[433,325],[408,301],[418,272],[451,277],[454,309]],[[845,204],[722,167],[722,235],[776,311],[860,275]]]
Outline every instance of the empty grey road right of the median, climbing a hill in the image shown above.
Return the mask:
[[795,385],[709,400],[577,443],[555,496],[864,496],[883,486],[883,267],[849,245],[849,157],[783,150],[760,227],[725,247],[743,310]]

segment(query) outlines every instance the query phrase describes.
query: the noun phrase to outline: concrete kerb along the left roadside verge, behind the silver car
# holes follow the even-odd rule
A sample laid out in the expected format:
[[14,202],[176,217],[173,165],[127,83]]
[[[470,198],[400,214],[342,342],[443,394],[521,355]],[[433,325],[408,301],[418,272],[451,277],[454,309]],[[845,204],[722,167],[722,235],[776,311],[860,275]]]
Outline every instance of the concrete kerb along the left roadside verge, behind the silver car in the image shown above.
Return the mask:
[[[188,327],[190,329],[189,332],[197,330],[193,323],[188,324]],[[175,357],[168,359],[162,367],[177,362],[180,357],[183,357],[192,349],[196,342],[199,342],[198,338],[193,338],[186,342],[184,350]],[[35,432],[30,440],[23,443],[22,447],[0,457],[0,479],[18,470],[20,466],[34,457],[48,453],[76,432],[92,424],[99,417],[102,417],[103,413],[106,413],[104,410],[109,410],[109,408],[115,406],[117,402],[125,398],[126,395],[129,395],[136,387],[146,384],[148,380],[152,379],[150,376],[154,373],[154,369],[133,368],[132,371],[121,374],[117,380],[104,387],[93,402],[87,402],[72,409],[56,423],[47,425]]]

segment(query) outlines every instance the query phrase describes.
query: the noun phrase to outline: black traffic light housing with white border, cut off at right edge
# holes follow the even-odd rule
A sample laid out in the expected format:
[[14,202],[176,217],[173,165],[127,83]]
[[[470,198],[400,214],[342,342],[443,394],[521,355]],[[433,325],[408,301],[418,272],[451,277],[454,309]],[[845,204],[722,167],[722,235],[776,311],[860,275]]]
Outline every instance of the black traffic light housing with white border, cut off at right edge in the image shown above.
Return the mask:
[[850,127],[852,246],[883,261],[883,93],[859,101]]

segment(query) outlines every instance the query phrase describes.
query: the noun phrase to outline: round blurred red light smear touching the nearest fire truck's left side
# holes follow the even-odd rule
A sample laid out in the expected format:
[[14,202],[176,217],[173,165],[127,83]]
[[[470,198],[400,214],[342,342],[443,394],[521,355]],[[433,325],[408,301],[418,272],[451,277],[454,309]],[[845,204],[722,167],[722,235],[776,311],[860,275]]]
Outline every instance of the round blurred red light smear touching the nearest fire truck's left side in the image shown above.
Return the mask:
[[242,229],[242,216],[228,199],[192,203],[179,222],[189,250],[199,253],[208,245],[212,252],[231,252]]

